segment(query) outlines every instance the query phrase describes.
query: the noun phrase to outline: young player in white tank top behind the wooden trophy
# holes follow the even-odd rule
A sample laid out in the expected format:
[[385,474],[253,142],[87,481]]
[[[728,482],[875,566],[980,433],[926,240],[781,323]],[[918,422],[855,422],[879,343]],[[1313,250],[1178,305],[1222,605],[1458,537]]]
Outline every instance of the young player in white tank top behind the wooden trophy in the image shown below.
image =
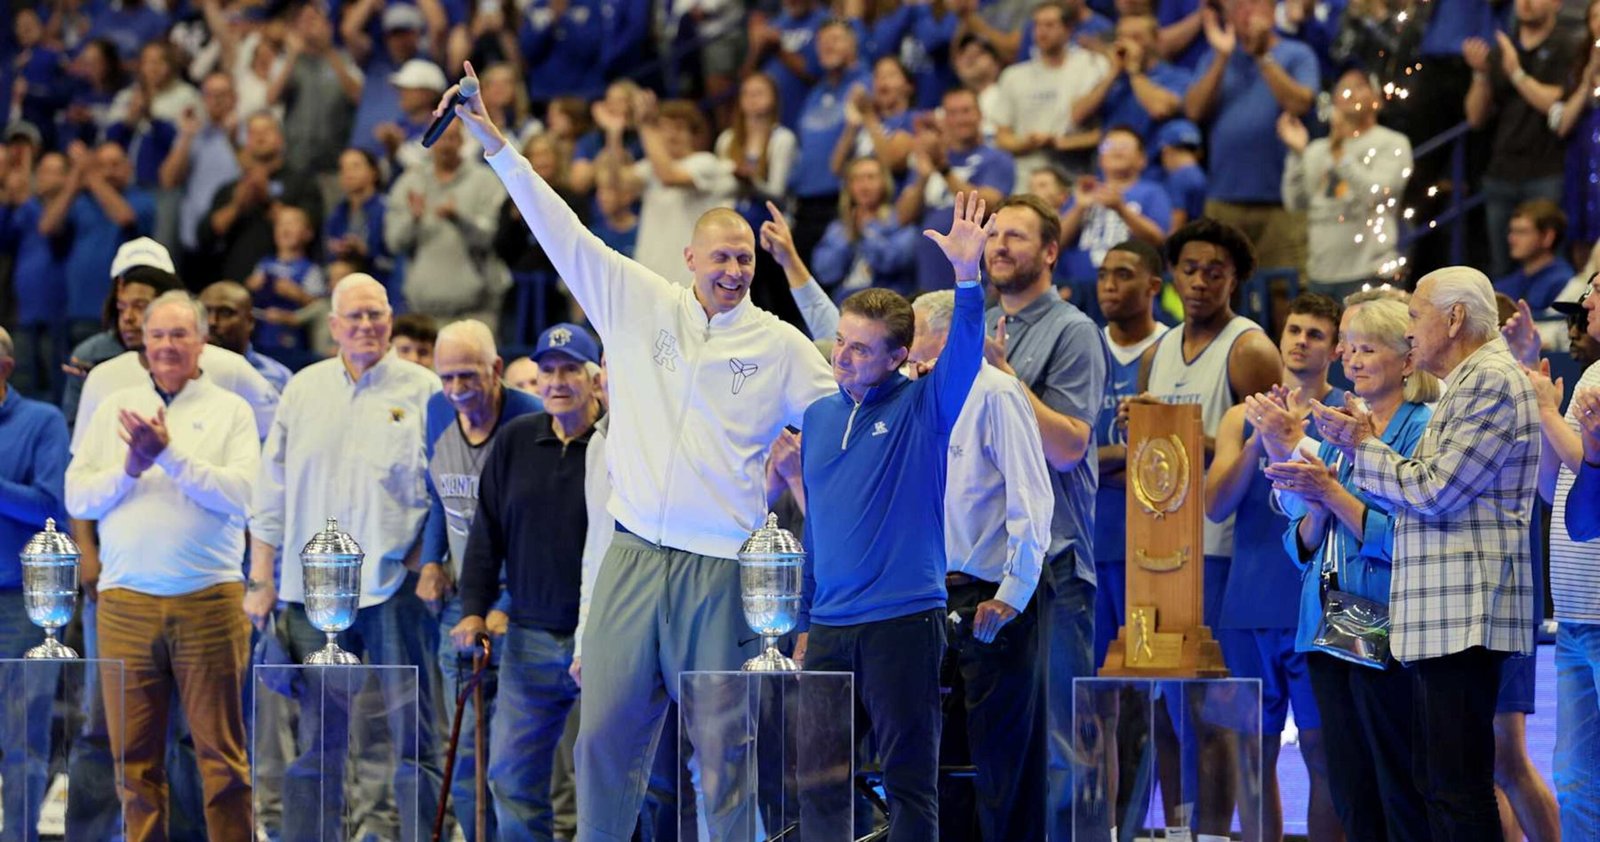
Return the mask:
[[[1216,445],[1222,415],[1245,399],[1266,392],[1282,378],[1283,360],[1259,325],[1234,314],[1234,291],[1240,280],[1256,269],[1256,253],[1242,231],[1226,223],[1200,218],[1178,229],[1166,240],[1166,259],[1173,266],[1173,283],[1184,303],[1181,330],[1170,330],[1144,352],[1139,370],[1141,389],[1118,408],[1118,423],[1126,424],[1130,403],[1197,403],[1205,431],[1206,464]],[[1216,611],[1222,603],[1227,570],[1234,559],[1234,522],[1205,522],[1205,623],[1216,627]],[[1253,536],[1251,539],[1270,539]],[[1181,717],[1176,698],[1168,695],[1165,711]],[[1162,717],[1157,717],[1162,719]],[[1182,746],[1184,780],[1198,780],[1198,768],[1222,768],[1232,764],[1227,741],[1216,727],[1192,722],[1197,740]],[[1186,728],[1187,730],[1187,728]],[[1171,732],[1157,730],[1158,740],[1171,743]],[[1163,751],[1171,751],[1176,746]],[[1226,778],[1226,776],[1224,776]],[[1165,786],[1165,784],[1171,786]],[[1226,783],[1224,783],[1226,788]],[[1179,792],[1176,781],[1163,781],[1168,807],[1178,797],[1192,802],[1192,792]],[[1171,812],[1168,812],[1171,815]],[[1213,788],[1198,805],[1195,829],[1200,839],[1227,839],[1234,816],[1232,792]]]

